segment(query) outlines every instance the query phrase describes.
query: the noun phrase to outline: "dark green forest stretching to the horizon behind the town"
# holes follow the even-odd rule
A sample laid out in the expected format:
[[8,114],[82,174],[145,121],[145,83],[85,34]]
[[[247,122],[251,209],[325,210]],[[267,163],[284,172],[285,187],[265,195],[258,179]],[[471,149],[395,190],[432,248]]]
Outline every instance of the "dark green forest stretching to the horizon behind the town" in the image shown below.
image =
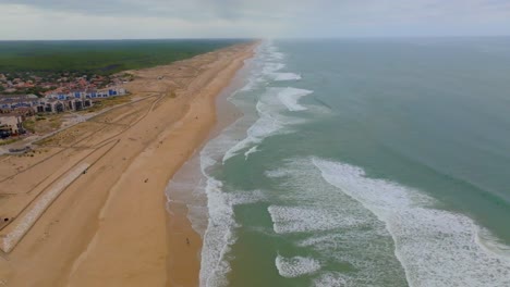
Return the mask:
[[0,73],[110,75],[187,59],[243,40],[0,41]]

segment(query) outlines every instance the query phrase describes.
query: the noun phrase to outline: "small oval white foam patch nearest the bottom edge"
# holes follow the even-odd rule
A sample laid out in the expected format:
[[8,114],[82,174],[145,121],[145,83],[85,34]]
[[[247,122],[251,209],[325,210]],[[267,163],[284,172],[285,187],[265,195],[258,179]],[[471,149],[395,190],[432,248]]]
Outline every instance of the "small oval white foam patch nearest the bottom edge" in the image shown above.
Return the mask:
[[286,278],[313,274],[320,270],[320,262],[313,258],[278,255],[275,260],[278,273]]

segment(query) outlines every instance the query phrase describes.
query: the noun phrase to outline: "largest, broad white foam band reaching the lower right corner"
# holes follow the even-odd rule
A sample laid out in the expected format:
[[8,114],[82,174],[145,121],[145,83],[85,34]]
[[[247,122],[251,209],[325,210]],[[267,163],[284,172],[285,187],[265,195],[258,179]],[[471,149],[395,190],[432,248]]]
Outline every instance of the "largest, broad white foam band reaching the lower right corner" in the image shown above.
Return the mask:
[[313,159],[323,177],[371,210],[391,234],[410,286],[510,286],[510,261],[476,241],[469,217],[428,208],[411,188],[365,177],[363,170]]

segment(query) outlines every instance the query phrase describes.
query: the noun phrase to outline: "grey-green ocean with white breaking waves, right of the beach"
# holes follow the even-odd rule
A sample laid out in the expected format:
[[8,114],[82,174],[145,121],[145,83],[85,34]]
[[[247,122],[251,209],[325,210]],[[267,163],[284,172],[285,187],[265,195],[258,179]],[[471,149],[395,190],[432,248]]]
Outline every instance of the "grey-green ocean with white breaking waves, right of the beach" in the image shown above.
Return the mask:
[[272,40],[241,75],[170,184],[201,286],[510,286],[510,38]]

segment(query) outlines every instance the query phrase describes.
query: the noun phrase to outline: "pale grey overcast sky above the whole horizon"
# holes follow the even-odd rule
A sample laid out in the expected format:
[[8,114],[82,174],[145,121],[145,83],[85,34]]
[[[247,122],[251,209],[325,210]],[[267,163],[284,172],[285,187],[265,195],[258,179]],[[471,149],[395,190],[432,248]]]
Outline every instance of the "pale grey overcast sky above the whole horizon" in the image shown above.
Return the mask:
[[510,35],[510,0],[0,0],[0,40]]

